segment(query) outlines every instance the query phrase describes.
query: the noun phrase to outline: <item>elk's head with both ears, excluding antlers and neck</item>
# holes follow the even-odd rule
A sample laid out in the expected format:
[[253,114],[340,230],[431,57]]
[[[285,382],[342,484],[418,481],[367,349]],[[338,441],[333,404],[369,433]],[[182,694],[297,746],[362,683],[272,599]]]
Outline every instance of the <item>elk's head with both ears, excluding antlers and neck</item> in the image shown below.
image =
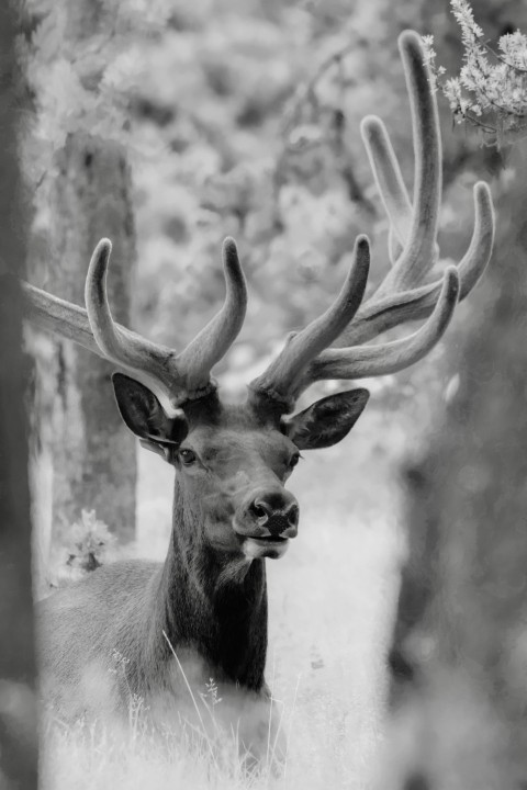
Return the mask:
[[113,383],[128,428],[176,467],[183,507],[201,539],[250,560],[278,558],[296,537],[299,504],[285,483],[300,451],[343,439],[368,400],[366,390],[355,390],[283,418],[258,398],[229,406],[213,395],[167,417],[143,384],[121,373]]

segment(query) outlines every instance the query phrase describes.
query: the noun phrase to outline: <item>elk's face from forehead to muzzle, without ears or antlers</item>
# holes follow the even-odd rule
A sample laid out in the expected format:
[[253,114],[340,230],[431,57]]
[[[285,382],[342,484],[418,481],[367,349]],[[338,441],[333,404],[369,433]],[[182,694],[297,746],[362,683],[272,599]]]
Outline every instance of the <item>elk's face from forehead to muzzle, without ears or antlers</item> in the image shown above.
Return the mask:
[[247,417],[224,408],[218,425],[190,421],[173,463],[210,545],[277,558],[298,532],[299,505],[284,484],[300,453],[279,430]]

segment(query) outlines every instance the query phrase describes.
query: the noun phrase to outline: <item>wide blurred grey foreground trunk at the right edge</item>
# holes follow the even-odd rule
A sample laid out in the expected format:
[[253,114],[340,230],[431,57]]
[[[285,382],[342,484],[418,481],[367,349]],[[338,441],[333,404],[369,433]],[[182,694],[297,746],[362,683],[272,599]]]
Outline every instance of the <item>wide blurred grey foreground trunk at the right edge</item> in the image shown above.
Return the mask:
[[527,787],[526,154],[512,161],[459,391],[410,473],[392,787]]

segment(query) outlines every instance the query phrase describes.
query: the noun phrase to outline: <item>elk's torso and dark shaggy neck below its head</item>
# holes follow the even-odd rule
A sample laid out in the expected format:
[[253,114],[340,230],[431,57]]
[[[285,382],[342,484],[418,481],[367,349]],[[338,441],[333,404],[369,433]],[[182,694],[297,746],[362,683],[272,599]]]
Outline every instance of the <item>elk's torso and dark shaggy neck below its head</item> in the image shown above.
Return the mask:
[[133,695],[161,714],[188,708],[165,633],[198,699],[211,678],[266,696],[262,562],[214,591],[178,578],[171,551],[165,564],[120,562],[43,601],[40,616],[42,669],[53,678],[46,698],[63,718],[126,715]]

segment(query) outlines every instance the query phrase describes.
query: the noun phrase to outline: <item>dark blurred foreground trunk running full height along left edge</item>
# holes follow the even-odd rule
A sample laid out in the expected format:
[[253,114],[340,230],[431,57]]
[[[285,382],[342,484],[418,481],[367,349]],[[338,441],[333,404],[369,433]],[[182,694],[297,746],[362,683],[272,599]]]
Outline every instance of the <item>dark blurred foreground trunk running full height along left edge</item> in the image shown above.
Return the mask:
[[16,126],[21,79],[15,16],[0,4],[0,787],[36,790],[37,731],[27,484],[27,359],[18,278],[25,268]]

